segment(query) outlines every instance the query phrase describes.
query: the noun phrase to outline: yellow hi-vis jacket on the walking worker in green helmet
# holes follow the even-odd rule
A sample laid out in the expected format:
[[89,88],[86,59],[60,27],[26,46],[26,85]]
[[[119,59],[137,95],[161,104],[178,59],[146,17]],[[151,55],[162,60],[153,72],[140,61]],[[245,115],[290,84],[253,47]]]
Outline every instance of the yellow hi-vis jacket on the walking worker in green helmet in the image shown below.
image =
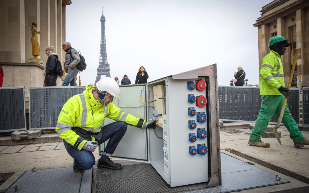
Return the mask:
[[280,95],[280,86],[285,87],[281,57],[277,52],[270,50],[261,64],[260,94]]

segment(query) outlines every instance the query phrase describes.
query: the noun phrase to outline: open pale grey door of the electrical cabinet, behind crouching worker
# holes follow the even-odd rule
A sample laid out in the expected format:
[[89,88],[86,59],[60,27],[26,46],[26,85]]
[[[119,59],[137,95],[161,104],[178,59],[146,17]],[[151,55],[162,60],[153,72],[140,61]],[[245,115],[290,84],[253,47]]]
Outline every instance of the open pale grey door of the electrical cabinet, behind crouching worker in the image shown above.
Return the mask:
[[[126,85],[119,86],[119,88],[120,98],[114,98],[113,103],[135,117],[146,119],[146,104],[143,104],[148,101],[146,85]],[[113,122],[114,120],[105,118],[104,125]],[[107,142],[105,141],[100,145],[100,152],[104,150]],[[113,157],[147,160],[146,130],[128,125],[128,129],[113,153]]]

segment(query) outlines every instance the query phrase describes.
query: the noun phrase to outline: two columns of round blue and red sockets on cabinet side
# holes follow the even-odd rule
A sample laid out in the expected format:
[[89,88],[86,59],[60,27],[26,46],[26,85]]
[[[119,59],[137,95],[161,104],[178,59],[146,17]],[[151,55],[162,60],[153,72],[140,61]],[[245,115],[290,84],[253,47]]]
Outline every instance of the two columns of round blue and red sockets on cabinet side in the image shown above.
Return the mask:
[[[195,83],[188,82],[188,90],[204,91],[206,87],[207,84],[204,80],[197,80],[195,81]],[[207,104],[207,99],[203,95],[194,96],[194,94],[188,94],[188,102],[191,104],[196,103],[196,107],[205,107]],[[196,117],[198,123],[205,123],[207,121],[207,115],[205,114],[205,112],[197,112],[195,107],[188,107],[188,115],[192,118]],[[206,140],[207,137],[207,131],[205,127],[197,128],[197,122],[195,122],[195,120],[188,120],[188,128],[191,130],[197,129],[197,135],[195,134],[195,132],[191,132],[188,134],[188,139],[191,143],[196,142],[197,139]],[[207,152],[208,149],[206,143],[197,144],[197,147],[195,145],[189,146],[189,153],[191,155],[205,155]]]

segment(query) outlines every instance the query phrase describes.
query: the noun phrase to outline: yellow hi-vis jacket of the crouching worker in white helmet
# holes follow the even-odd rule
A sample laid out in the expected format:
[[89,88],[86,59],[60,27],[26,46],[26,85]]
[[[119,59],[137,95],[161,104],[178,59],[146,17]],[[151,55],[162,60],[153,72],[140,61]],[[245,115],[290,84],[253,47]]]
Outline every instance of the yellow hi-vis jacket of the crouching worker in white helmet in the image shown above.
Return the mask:
[[94,85],[87,85],[82,94],[71,97],[59,114],[56,132],[66,142],[81,150],[87,141],[101,139],[104,118],[124,121],[128,125],[142,128],[146,120],[134,117],[113,103],[104,106],[91,92]]

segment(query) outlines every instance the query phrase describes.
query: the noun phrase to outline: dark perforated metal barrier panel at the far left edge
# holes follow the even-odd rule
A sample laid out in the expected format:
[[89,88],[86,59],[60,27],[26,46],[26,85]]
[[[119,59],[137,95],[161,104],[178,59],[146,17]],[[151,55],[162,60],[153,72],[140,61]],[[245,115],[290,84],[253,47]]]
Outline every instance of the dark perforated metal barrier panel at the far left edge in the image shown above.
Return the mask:
[[2,87],[0,99],[0,132],[26,130],[25,87]]

